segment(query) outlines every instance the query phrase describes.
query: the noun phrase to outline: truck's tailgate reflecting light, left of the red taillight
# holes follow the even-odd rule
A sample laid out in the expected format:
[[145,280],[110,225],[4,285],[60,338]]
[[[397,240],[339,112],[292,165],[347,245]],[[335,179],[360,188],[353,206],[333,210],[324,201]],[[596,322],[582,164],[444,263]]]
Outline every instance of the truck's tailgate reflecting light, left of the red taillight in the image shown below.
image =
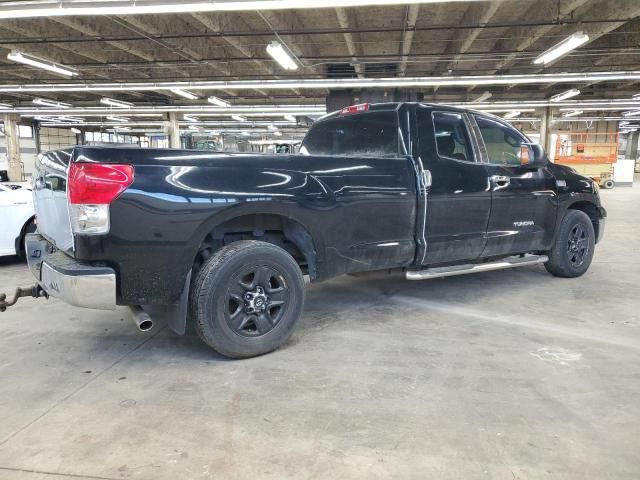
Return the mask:
[[73,253],[73,234],[69,223],[67,172],[73,149],[38,156],[33,177],[33,203],[38,232],[60,250]]

